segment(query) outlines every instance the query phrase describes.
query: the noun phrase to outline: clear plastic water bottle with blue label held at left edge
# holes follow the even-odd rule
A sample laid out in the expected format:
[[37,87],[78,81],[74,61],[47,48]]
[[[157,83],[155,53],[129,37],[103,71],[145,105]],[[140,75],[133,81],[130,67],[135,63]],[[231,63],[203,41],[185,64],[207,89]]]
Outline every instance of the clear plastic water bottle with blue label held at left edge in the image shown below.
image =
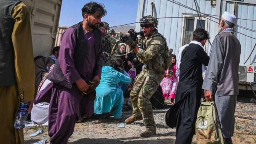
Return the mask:
[[25,128],[26,119],[28,117],[28,107],[29,107],[29,104],[27,102],[20,103],[20,108],[16,115],[14,128],[19,129],[19,130]]

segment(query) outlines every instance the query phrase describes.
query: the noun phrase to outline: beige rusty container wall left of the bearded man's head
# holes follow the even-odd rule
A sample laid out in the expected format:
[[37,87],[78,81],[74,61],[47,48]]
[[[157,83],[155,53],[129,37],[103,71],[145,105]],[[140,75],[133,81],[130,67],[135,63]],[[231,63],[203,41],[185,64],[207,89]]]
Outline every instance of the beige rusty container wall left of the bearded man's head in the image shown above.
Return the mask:
[[[55,44],[62,0],[22,0],[30,10],[34,56],[49,56]],[[42,35],[35,35],[42,34]]]

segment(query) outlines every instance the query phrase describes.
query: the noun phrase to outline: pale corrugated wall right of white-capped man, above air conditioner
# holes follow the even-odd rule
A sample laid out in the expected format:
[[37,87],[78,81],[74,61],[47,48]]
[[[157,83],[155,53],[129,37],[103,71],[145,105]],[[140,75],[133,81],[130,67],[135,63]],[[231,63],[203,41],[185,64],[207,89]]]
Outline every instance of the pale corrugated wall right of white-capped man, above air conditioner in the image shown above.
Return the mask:
[[[234,2],[226,2],[226,11],[234,12]],[[237,24],[239,26],[244,26],[246,28],[250,28],[256,31],[256,4],[244,4],[244,3],[237,3],[236,5],[236,16],[238,18],[249,19],[249,20],[240,20],[238,19]],[[253,38],[256,38],[256,32],[252,32],[250,30],[246,30],[244,28],[236,27],[237,32],[241,32]],[[240,56],[240,64],[244,64],[248,56],[250,55],[256,40],[252,38],[248,38],[242,34],[236,34],[237,38],[240,40],[242,51]],[[252,53],[250,59],[246,62],[246,64],[251,64],[255,62],[256,59],[256,50]]]

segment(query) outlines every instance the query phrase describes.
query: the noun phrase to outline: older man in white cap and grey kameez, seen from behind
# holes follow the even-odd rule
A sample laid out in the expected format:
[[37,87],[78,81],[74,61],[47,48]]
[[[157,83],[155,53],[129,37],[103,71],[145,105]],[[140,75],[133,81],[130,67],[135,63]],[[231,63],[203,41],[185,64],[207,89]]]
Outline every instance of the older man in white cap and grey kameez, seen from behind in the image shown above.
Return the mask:
[[212,44],[208,70],[202,86],[206,100],[214,99],[226,144],[232,144],[238,95],[241,44],[232,29],[235,23],[236,16],[228,12],[222,14],[219,34],[216,35]]

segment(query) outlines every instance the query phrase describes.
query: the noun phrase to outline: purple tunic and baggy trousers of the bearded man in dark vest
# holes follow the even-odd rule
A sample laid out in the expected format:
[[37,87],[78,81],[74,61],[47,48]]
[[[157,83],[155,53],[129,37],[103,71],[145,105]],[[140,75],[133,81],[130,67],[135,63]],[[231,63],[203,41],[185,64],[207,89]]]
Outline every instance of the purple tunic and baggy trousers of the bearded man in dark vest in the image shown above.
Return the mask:
[[[84,66],[77,71],[74,65],[74,49],[76,47],[76,34],[74,28],[68,28],[62,35],[58,61],[60,68],[71,84],[80,78],[85,81],[94,76],[101,76],[102,69],[102,44],[98,53],[94,49],[94,32],[85,33],[88,41],[86,55],[84,55]],[[51,92],[51,95],[50,95]],[[45,97],[45,98],[44,98]],[[38,95],[37,102],[47,101],[51,98],[49,107],[49,129],[50,142],[52,144],[66,144],[74,131],[76,120],[89,118],[94,112],[94,101],[88,96],[83,96],[76,85],[71,89],[58,84],[46,86],[45,91]]]

